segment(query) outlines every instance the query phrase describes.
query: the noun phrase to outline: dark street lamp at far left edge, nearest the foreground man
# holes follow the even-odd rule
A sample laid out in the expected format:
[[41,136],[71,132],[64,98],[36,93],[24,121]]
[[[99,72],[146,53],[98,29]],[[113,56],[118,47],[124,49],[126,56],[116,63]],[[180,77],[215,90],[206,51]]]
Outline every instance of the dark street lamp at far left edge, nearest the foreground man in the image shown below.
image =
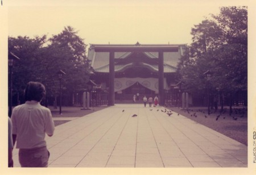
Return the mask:
[[13,62],[14,59],[16,60],[20,60],[19,57],[17,57],[16,55],[14,55],[13,52],[9,52],[8,55],[8,66],[10,68],[10,98],[9,98],[9,116],[11,117],[11,113],[13,111]]

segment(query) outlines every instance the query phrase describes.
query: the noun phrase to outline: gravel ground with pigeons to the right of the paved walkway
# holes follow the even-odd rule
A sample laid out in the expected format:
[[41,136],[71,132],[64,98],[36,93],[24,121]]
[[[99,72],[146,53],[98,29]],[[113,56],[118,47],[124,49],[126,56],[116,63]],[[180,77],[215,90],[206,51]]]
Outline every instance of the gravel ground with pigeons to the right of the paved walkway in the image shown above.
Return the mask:
[[168,109],[247,145],[247,107],[234,107],[231,115],[228,107],[224,108],[224,114],[220,114],[220,110],[212,110],[210,115],[206,107],[192,107],[189,110],[177,107]]

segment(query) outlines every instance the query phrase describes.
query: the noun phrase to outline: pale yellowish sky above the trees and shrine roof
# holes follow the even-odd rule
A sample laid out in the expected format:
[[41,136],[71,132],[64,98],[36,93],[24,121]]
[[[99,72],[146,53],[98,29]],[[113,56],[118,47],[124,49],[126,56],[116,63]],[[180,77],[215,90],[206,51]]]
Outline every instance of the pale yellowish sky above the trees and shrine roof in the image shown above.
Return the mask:
[[50,38],[72,26],[86,44],[189,44],[193,25],[230,5],[217,2],[10,1],[8,35]]

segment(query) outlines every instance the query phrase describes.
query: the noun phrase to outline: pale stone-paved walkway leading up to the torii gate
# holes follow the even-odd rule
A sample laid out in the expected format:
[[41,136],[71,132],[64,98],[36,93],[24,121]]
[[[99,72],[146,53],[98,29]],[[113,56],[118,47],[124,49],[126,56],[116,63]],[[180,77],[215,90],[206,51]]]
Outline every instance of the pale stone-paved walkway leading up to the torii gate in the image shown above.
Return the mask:
[[247,167],[246,145],[161,110],[118,104],[57,126],[49,167]]

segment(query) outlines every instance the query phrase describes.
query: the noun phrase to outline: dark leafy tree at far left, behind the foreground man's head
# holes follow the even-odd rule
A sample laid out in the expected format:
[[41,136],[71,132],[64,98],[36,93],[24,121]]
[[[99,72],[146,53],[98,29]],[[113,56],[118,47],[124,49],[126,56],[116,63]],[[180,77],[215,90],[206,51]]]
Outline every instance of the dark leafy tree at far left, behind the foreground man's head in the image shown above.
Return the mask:
[[46,36],[36,36],[34,39],[28,36],[8,38],[9,52],[13,52],[20,60],[15,61],[13,68],[14,94],[22,94],[28,81],[40,81],[42,73],[39,65],[42,60],[42,48],[46,43]]

